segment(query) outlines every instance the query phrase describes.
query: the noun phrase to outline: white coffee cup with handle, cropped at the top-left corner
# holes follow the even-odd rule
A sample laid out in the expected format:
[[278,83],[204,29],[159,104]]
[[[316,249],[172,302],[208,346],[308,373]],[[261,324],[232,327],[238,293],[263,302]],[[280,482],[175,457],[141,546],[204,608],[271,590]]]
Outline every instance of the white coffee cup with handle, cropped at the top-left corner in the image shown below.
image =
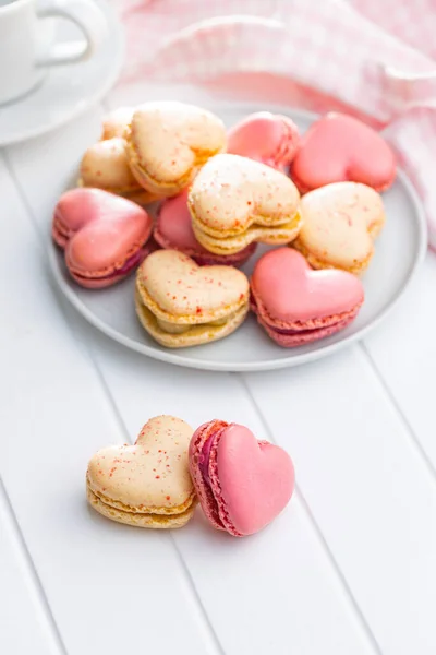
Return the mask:
[[[56,16],[77,25],[84,39],[47,43],[50,31],[44,25]],[[107,33],[105,14],[93,0],[0,0],[0,105],[36,87],[49,67],[92,57]]]

